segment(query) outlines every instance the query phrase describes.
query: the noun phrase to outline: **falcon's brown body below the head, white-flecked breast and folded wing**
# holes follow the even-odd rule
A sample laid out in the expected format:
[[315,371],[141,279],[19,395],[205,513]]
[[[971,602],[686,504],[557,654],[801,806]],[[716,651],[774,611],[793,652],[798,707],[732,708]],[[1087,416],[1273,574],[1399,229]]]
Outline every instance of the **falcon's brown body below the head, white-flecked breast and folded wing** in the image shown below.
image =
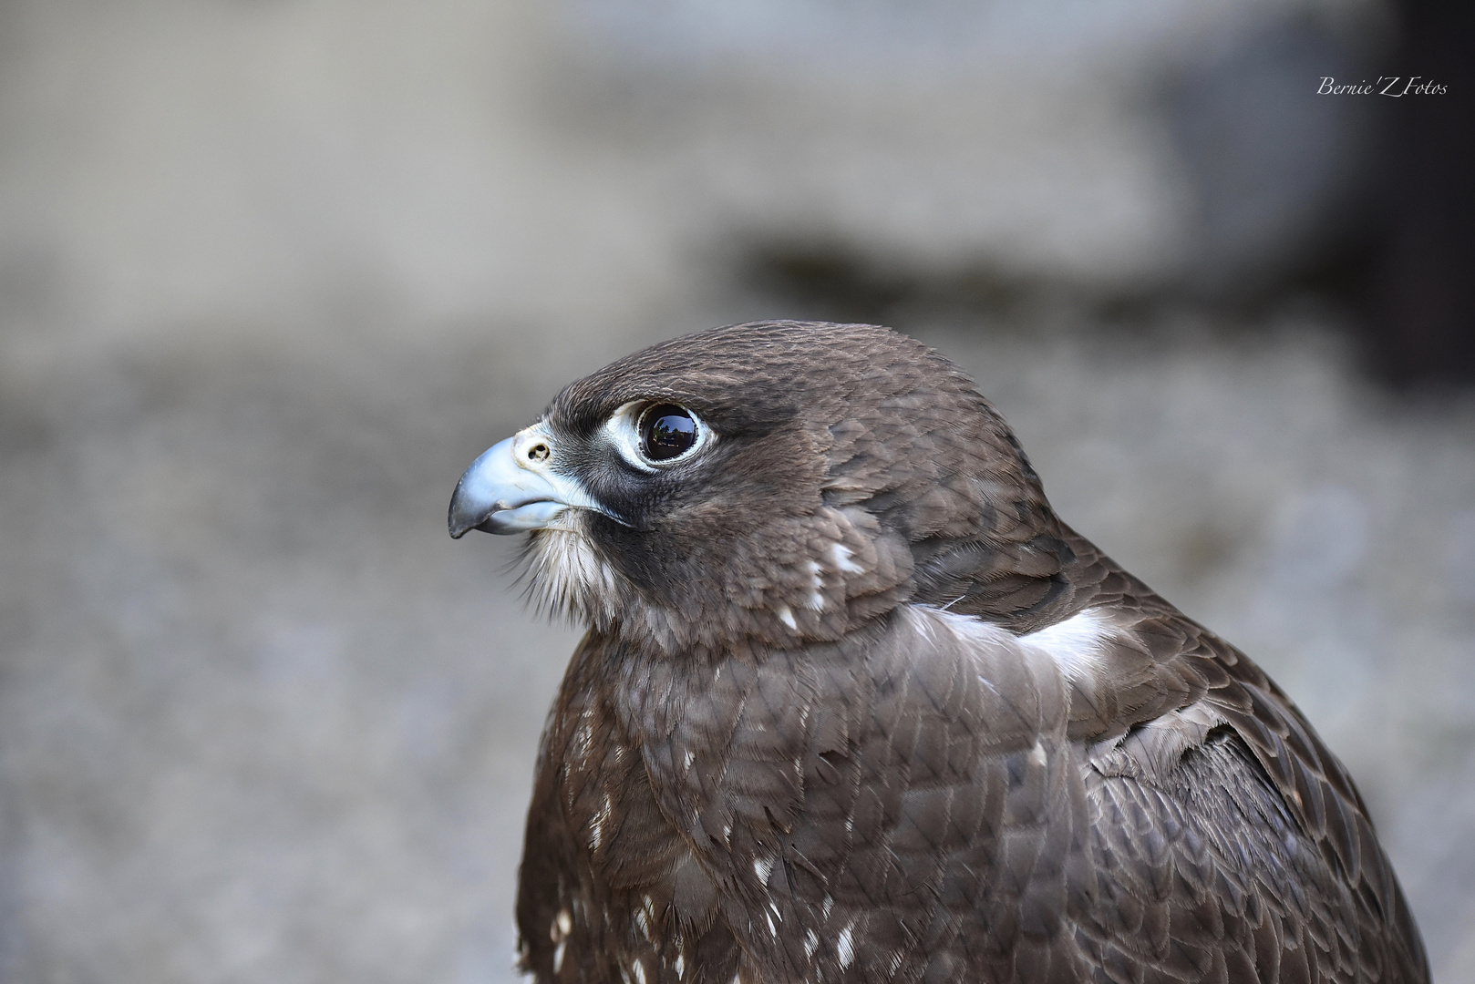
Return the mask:
[[1074,603],[1114,603],[1086,676],[1027,633],[916,605],[832,645],[680,668],[587,640],[530,811],[524,966],[1426,981],[1314,730],[1252,662],[1069,543],[1094,577]]

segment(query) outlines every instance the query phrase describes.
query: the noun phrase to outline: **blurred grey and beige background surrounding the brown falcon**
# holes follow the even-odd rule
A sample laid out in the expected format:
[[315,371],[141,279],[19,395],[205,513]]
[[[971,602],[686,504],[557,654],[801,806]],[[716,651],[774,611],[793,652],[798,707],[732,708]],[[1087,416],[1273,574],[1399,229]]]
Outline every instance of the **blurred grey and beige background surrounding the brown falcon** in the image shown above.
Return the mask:
[[[0,980],[513,980],[575,634],[451,488],[565,382],[782,316],[963,364],[1301,704],[1475,980],[1469,22],[4,0]],[[1447,91],[1317,94],[1379,75]]]

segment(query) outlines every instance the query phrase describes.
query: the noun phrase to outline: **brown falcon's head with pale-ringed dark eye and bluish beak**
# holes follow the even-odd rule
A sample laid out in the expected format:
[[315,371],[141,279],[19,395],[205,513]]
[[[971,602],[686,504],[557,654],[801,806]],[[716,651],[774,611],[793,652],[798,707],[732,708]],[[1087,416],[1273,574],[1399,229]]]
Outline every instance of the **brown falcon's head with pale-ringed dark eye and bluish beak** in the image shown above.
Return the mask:
[[1021,549],[1049,578],[1065,550],[1040,540],[1040,481],[974,384],[866,325],[735,325],[628,356],[481,454],[448,519],[525,531],[540,608],[667,652],[839,639],[1006,577]]

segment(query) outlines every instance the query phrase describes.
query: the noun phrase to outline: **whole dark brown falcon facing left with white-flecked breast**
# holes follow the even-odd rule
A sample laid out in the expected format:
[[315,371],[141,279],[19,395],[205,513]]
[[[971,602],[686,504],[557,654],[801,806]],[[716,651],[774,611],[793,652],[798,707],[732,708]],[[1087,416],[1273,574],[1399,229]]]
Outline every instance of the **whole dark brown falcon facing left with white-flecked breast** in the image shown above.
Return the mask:
[[766,322],[571,384],[462,477],[587,627],[543,733],[543,981],[1428,981],[1342,764],[1052,510],[892,330]]

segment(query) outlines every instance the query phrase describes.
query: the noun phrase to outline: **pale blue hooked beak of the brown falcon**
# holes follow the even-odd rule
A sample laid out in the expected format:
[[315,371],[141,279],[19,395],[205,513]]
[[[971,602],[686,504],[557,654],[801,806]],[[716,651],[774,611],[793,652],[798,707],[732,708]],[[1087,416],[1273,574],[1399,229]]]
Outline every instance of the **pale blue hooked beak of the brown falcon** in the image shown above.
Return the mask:
[[535,423],[487,448],[456,482],[451,538],[469,530],[522,533],[543,530],[569,507],[589,507],[589,496],[552,471],[553,440]]

